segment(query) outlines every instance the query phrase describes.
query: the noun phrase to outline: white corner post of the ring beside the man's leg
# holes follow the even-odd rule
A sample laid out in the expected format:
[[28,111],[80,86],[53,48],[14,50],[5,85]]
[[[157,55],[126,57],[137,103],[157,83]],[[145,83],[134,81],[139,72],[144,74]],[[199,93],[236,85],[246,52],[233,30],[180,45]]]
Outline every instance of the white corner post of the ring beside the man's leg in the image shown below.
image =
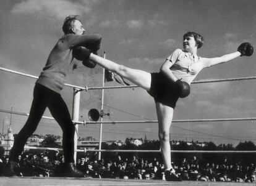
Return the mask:
[[[79,121],[79,107],[80,107],[80,91],[74,88],[74,98],[73,98],[73,113],[72,120]],[[75,124],[75,134],[74,134],[74,160],[77,162],[77,139],[78,139],[78,124]]]

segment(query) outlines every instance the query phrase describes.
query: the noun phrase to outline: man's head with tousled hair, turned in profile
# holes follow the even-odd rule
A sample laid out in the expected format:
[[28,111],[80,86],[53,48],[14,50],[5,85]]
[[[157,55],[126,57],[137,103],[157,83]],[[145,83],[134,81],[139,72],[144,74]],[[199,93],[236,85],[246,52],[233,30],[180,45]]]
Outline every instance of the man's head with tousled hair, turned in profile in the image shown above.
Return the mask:
[[78,19],[78,15],[69,15],[65,18],[62,30],[64,34],[83,34],[85,29],[83,28],[82,23]]

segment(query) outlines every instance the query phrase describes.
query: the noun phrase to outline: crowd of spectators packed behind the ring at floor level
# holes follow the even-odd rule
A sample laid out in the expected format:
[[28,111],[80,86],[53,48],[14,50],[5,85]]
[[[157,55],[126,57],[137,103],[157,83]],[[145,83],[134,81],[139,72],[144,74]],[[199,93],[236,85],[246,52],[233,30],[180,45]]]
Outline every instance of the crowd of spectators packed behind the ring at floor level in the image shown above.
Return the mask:
[[[161,179],[164,180],[163,163],[156,158],[153,160],[133,158],[122,159],[117,156],[114,160],[91,160],[90,156],[81,156],[76,163],[77,169],[96,178],[119,179]],[[0,159],[0,175],[6,167],[9,158]],[[64,156],[59,152],[49,158],[48,153],[23,154],[19,156],[16,172],[18,176],[58,176]],[[221,161],[198,160],[192,156],[190,160],[183,158],[180,162],[174,162],[173,168],[183,180],[220,181],[220,182],[255,182],[255,162],[243,164],[231,162],[227,157]]]

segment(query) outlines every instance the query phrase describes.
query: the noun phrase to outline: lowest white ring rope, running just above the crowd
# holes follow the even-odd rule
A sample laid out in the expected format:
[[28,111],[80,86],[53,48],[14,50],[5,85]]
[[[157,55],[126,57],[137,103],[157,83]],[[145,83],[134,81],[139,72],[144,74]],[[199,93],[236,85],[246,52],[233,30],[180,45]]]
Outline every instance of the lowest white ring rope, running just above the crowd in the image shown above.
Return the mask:
[[[11,147],[10,145],[0,145],[1,147]],[[38,150],[59,150],[62,151],[62,148],[51,148],[51,147],[32,147],[24,146],[25,149],[38,149]],[[75,152],[140,152],[140,153],[161,153],[161,150],[110,150],[110,149],[75,149]],[[256,153],[256,150],[171,150],[171,153]]]

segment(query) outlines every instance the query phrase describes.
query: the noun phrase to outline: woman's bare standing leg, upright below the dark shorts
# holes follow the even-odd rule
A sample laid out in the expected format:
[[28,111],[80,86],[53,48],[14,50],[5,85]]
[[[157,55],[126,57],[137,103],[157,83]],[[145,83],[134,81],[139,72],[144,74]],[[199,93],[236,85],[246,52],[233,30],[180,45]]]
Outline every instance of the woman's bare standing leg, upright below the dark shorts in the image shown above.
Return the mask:
[[164,170],[169,170],[172,168],[169,129],[173,120],[173,108],[156,102],[156,114],[158,117],[158,135],[161,144]]

